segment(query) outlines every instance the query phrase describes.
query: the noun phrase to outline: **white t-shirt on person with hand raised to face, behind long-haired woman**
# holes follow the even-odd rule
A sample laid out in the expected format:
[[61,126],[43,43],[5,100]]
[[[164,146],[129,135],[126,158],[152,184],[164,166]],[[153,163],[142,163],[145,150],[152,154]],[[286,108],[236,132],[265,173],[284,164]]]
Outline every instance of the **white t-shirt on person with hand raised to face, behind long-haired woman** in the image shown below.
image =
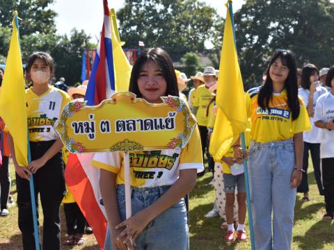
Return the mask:
[[[313,112],[315,112],[315,103],[317,103],[317,99],[321,96],[321,94],[325,94],[327,92],[324,87],[317,87],[315,93],[313,94]],[[308,107],[308,99],[310,97],[310,90],[306,90],[304,88],[299,88],[298,90],[299,97],[303,99],[305,103],[305,107]],[[314,124],[314,117],[310,117],[310,122],[312,124],[312,129],[310,131],[306,131],[303,133],[304,142],[309,143],[320,143],[321,140],[321,128],[317,128]]]

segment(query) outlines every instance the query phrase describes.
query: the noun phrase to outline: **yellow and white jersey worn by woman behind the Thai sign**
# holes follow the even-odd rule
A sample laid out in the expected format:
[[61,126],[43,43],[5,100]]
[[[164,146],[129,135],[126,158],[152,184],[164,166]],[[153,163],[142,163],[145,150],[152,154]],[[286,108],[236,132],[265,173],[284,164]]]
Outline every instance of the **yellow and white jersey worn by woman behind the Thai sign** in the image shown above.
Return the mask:
[[[131,185],[137,188],[153,188],[173,185],[182,169],[204,170],[198,127],[193,131],[184,149],[134,151],[129,153]],[[117,174],[116,183],[124,184],[124,153],[95,153],[92,165]]]

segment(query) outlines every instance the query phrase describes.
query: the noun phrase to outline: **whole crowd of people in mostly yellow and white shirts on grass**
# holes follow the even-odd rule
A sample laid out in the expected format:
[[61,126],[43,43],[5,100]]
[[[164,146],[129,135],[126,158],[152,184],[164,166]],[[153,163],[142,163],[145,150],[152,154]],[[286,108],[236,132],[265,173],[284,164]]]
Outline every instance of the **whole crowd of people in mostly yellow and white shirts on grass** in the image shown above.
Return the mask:
[[[0,71],[0,81],[3,70]],[[32,161],[19,166],[13,139],[1,121],[1,216],[8,215],[11,156],[16,172],[18,225],[24,249],[35,249],[29,176],[33,174],[35,195],[40,194],[44,215],[43,249],[60,249],[61,203],[65,211],[67,238],[63,244],[84,244],[89,225],[74,197],[66,188],[64,168],[68,152],[54,131],[53,122],[36,124],[33,118],[58,119],[71,99],[83,98],[86,85],[65,92],[63,80],[50,85],[54,60],[45,52],[33,53],[26,67],[32,83],[26,89],[29,142]],[[245,92],[248,128],[246,151],[238,139],[219,162],[209,153],[210,137],[217,113],[218,70],[205,67],[187,78],[173,67],[163,49],[144,49],[132,68],[129,91],[150,103],[161,103],[168,95],[180,97],[198,124],[184,149],[134,151],[132,172],[141,157],[173,158],[173,166],[145,169],[150,180],[131,176],[132,217],[125,215],[124,153],[95,153],[92,165],[100,169],[100,190],[108,221],[104,249],[189,249],[187,194],[205,171],[212,172],[214,207],[205,217],[223,217],[225,240],[246,241],[246,192],[244,158],[248,159],[250,205],[256,249],[291,249],[296,192],[302,201],[312,199],[308,186],[309,151],[320,195],[324,195],[324,220],[334,213],[334,66],[320,71],[306,64],[297,69],[292,51],[278,49],[264,72],[263,84]],[[182,93],[192,80],[188,98]],[[58,87],[58,88],[56,88]],[[35,129],[38,128],[38,129]],[[167,164],[167,163],[166,163]],[[207,167],[205,168],[205,165]],[[37,196],[36,196],[37,197]],[[38,202],[36,200],[36,206]],[[191,215],[190,215],[191,216]],[[237,228],[234,228],[234,222]],[[166,233],[168,232],[168,233]]]

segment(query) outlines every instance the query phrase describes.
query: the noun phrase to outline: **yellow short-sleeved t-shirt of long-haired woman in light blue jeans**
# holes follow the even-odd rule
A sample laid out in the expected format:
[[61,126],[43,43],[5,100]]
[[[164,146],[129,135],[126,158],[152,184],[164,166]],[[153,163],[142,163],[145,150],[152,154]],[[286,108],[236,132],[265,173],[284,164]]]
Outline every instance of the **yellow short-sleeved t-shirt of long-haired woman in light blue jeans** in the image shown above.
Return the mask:
[[292,113],[287,104],[287,91],[273,94],[269,101],[269,110],[262,110],[257,104],[260,87],[248,90],[246,93],[247,115],[251,119],[250,138],[255,142],[273,142],[293,138],[295,133],[311,129],[308,112],[299,97],[301,112],[292,121]]

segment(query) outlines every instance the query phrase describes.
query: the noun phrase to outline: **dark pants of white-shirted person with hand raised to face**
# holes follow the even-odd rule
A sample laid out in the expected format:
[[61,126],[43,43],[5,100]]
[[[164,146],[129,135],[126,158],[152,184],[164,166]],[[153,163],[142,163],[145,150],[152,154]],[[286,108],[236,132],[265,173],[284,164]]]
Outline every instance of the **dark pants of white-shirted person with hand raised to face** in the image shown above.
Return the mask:
[[315,181],[317,182],[319,194],[324,195],[324,188],[321,183],[321,170],[320,170],[320,144],[304,142],[303,152],[303,169],[305,172],[302,174],[301,185],[297,188],[297,192],[308,192],[308,151],[311,152],[313,169],[315,169]]

